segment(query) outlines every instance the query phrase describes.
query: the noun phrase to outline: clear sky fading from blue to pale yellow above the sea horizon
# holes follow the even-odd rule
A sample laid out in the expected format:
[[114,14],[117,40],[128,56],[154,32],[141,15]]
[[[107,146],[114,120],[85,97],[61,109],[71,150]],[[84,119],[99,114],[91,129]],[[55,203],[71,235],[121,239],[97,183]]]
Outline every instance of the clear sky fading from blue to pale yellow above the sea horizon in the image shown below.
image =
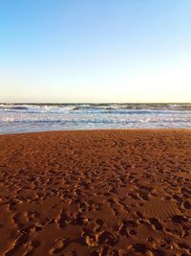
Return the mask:
[[191,103],[190,0],[0,0],[1,103]]

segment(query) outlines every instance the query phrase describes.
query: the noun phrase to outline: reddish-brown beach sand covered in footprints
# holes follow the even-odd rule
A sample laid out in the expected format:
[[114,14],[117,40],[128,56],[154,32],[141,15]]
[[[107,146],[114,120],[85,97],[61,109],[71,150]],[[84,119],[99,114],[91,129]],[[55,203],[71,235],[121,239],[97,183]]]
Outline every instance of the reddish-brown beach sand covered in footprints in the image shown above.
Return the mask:
[[0,136],[0,255],[190,255],[191,130]]

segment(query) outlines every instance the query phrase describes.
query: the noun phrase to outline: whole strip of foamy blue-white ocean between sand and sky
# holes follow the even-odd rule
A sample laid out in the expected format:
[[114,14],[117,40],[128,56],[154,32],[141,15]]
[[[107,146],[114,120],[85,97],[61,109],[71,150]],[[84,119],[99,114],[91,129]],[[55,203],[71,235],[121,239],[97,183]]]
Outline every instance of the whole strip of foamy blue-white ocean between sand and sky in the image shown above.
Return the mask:
[[0,134],[100,128],[191,128],[191,104],[0,104]]

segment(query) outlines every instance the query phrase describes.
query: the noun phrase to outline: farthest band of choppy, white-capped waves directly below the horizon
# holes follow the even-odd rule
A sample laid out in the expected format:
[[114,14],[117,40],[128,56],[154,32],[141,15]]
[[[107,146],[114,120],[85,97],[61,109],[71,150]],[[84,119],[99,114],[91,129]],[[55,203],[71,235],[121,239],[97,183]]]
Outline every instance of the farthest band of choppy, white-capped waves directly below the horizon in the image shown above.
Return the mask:
[[100,113],[146,113],[149,111],[191,111],[191,104],[1,104],[0,110],[29,113],[59,113],[78,111],[100,111]]

